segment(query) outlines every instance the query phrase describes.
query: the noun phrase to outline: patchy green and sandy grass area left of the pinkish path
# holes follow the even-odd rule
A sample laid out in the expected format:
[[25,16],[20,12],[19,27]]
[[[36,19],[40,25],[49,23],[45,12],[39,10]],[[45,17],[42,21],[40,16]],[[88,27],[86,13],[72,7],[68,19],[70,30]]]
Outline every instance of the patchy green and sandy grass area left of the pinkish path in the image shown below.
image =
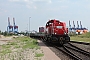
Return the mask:
[[44,55],[36,52],[37,49],[40,49],[40,47],[38,46],[38,42],[37,40],[29,37],[13,38],[11,42],[8,42],[8,44],[1,45],[1,47],[2,49],[0,50],[0,60],[4,60],[5,57],[9,57],[9,59],[11,60],[15,58],[23,59],[23,53],[25,53],[25,51],[28,52],[30,50],[33,50],[33,53],[35,54],[34,57],[39,58]]

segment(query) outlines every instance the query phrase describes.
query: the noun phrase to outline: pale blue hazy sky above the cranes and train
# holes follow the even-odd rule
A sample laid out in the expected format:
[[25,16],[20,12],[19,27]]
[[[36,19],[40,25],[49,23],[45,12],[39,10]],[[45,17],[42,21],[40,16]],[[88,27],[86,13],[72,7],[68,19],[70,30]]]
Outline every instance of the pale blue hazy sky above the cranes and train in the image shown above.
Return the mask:
[[19,31],[29,30],[29,17],[30,30],[38,31],[49,19],[59,19],[67,26],[69,20],[82,21],[90,30],[90,0],[0,0],[0,30],[6,30],[8,17],[12,25],[15,18]]

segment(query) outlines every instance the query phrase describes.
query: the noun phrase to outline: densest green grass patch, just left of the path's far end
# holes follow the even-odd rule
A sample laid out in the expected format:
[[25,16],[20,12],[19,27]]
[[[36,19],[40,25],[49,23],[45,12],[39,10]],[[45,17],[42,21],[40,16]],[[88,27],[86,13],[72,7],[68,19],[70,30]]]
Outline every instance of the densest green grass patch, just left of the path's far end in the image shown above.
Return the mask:
[[24,43],[22,46],[23,49],[27,49],[27,48],[38,49],[39,48],[39,46],[37,44],[37,40],[35,40],[35,39],[31,39],[29,37],[22,37],[22,38],[19,37],[19,38],[16,38],[16,40],[19,40],[20,42]]

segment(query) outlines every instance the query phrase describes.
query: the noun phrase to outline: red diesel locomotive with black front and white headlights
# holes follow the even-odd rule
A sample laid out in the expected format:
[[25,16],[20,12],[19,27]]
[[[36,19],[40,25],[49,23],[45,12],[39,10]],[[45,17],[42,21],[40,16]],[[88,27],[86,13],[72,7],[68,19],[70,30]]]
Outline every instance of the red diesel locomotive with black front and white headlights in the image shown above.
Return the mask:
[[45,26],[44,41],[64,44],[70,41],[68,28],[65,22],[59,20],[49,20]]

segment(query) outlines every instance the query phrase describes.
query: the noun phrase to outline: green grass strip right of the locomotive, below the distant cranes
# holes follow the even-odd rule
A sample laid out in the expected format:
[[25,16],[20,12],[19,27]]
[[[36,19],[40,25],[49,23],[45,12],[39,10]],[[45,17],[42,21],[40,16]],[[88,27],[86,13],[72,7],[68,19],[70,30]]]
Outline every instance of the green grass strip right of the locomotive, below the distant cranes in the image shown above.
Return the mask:
[[71,41],[81,41],[90,43],[90,32],[82,35],[71,36],[70,39]]

